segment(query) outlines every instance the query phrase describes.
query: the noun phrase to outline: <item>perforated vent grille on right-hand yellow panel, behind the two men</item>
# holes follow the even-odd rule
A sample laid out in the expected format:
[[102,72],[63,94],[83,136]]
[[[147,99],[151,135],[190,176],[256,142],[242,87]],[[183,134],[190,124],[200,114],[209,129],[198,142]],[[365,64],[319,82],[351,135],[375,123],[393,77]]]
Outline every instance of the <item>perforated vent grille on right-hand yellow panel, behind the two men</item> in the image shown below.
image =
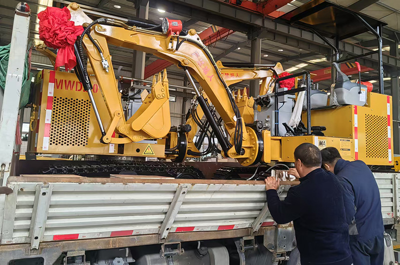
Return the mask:
[[365,114],[366,157],[388,158],[387,117]]

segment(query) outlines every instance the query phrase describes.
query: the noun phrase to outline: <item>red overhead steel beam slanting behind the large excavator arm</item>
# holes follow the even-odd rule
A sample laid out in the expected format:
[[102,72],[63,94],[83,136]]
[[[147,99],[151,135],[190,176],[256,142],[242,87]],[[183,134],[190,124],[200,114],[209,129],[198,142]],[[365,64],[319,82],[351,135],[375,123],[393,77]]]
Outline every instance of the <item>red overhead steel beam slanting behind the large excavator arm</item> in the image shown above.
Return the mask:
[[[233,32],[233,30],[212,25],[199,33],[198,36],[200,37],[204,45],[208,46],[222,38],[226,38]],[[153,61],[152,63],[144,67],[144,79],[162,71],[164,68],[167,68],[172,64],[173,63],[165,61],[163,59],[157,59]]]

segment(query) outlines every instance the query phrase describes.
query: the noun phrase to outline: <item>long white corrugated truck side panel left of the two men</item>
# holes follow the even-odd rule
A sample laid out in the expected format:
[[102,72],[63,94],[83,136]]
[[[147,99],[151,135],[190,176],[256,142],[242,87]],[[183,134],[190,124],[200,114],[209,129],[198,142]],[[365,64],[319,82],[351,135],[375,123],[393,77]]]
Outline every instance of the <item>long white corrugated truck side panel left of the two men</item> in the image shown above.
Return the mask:
[[11,177],[8,186],[13,193],[6,196],[1,244],[37,248],[60,240],[274,225],[261,181]]

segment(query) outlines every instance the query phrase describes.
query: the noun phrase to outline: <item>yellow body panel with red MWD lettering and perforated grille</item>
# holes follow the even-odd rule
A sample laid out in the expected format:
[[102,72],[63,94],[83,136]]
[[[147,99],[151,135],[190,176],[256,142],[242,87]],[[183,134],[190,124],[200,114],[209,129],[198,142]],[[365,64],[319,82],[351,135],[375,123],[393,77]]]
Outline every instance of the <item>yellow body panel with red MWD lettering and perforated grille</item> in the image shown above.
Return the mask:
[[[116,144],[100,143],[101,132],[89,97],[74,74],[43,70],[36,75],[36,78],[38,80],[36,79],[35,83],[34,102],[37,108],[33,110],[36,114],[35,120],[32,121],[34,130],[29,133],[28,152],[117,153]],[[110,121],[108,111],[96,80],[91,78],[91,82],[93,97],[104,127],[107,128]]]

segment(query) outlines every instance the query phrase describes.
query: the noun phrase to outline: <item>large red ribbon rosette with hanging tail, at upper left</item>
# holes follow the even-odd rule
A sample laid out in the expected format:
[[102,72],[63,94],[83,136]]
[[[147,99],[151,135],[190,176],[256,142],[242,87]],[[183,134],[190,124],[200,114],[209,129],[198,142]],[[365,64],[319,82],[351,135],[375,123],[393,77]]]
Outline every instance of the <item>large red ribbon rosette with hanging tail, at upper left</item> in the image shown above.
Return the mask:
[[73,43],[77,36],[83,32],[82,26],[75,26],[70,21],[71,14],[68,8],[48,6],[38,13],[39,38],[50,48],[58,49],[55,58],[55,68],[65,66],[66,70],[76,65],[76,57],[73,52]]

